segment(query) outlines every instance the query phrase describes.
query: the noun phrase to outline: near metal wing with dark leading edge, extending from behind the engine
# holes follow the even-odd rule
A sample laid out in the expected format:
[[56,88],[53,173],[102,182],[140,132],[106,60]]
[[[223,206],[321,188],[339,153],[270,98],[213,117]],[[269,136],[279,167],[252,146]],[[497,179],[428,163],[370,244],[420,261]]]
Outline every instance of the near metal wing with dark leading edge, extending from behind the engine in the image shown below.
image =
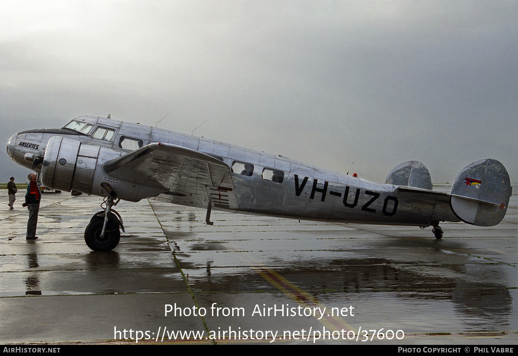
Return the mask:
[[156,200],[237,210],[230,168],[208,154],[168,143],[151,143],[105,163],[111,176],[161,188]]

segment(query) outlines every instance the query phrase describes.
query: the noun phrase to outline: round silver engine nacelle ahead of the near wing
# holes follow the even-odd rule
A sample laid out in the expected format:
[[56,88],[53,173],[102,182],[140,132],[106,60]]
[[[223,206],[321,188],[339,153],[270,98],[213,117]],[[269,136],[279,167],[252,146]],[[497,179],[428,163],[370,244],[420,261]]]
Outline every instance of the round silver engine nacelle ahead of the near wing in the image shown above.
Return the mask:
[[110,192],[101,184],[108,183],[117,197],[139,201],[164,192],[126,182],[103,171],[105,162],[120,157],[123,153],[105,147],[93,146],[78,140],[59,136],[52,137],[45,150],[41,168],[41,183],[60,190],[77,190],[88,195],[108,196]]

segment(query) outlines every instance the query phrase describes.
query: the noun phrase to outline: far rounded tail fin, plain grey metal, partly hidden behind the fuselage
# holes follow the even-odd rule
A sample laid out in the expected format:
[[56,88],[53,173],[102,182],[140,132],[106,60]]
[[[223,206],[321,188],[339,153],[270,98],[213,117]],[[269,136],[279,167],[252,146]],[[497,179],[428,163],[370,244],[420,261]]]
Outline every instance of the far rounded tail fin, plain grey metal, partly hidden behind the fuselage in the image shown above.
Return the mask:
[[395,167],[385,179],[386,184],[432,189],[428,169],[419,161],[408,161]]

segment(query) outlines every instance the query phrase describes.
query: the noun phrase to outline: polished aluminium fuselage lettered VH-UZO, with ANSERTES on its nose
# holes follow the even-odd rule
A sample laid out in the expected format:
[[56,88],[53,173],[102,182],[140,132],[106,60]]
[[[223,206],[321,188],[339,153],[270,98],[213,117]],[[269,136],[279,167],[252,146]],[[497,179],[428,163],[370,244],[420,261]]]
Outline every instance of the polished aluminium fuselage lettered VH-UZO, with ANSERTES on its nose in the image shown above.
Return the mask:
[[[401,191],[396,185],[372,183],[282,156],[160,128],[96,116],[80,116],[75,120],[92,124],[90,132],[102,126],[113,129],[114,135],[106,140],[96,139],[90,132],[29,130],[13,136],[7,151],[13,160],[30,168],[27,153],[42,155],[47,142],[54,136],[119,151],[120,155],[132,152],[119,146],[128,137],[138,140],[140,147],[154,142],[169,143],[216,157],[231,168],[236,167],[236,162],[243,167],[253,166],[253,171],[232,173],[235,206],[226,208],[216,204],[215,209],[299,219],[423,227],[444,220],[459,221],[451,211],[449,200],[436,195],[423,194],[416,199],[415,195]],[[100,155],[100,162],[113,158],[101,159]],[[265,169],[282,172],[282,181],[265,177]],[[180,194],[161,194],[155,199],[198,207],[208,205],[206,199]]]

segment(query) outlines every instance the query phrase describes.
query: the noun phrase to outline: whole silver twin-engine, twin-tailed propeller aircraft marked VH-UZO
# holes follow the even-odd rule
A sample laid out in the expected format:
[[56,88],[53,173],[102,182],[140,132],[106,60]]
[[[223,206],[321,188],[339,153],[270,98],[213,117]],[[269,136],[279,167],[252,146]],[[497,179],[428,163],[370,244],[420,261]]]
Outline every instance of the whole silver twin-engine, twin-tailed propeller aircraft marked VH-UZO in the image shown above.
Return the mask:
[[394,168],[385,183],[336,173],[224,142],[108,117],[80,116],[61,129],[13,135],[7,153],[54,189],[105,197],[84,231],[87,245],[111,250],[123,221],[112,206],[144,198],[207,210],[362,224],[433,227],[441,221],[493,226],[505,216],[511,185],[503,165],[464,168],[450,193],[432,190],[419,161]]

